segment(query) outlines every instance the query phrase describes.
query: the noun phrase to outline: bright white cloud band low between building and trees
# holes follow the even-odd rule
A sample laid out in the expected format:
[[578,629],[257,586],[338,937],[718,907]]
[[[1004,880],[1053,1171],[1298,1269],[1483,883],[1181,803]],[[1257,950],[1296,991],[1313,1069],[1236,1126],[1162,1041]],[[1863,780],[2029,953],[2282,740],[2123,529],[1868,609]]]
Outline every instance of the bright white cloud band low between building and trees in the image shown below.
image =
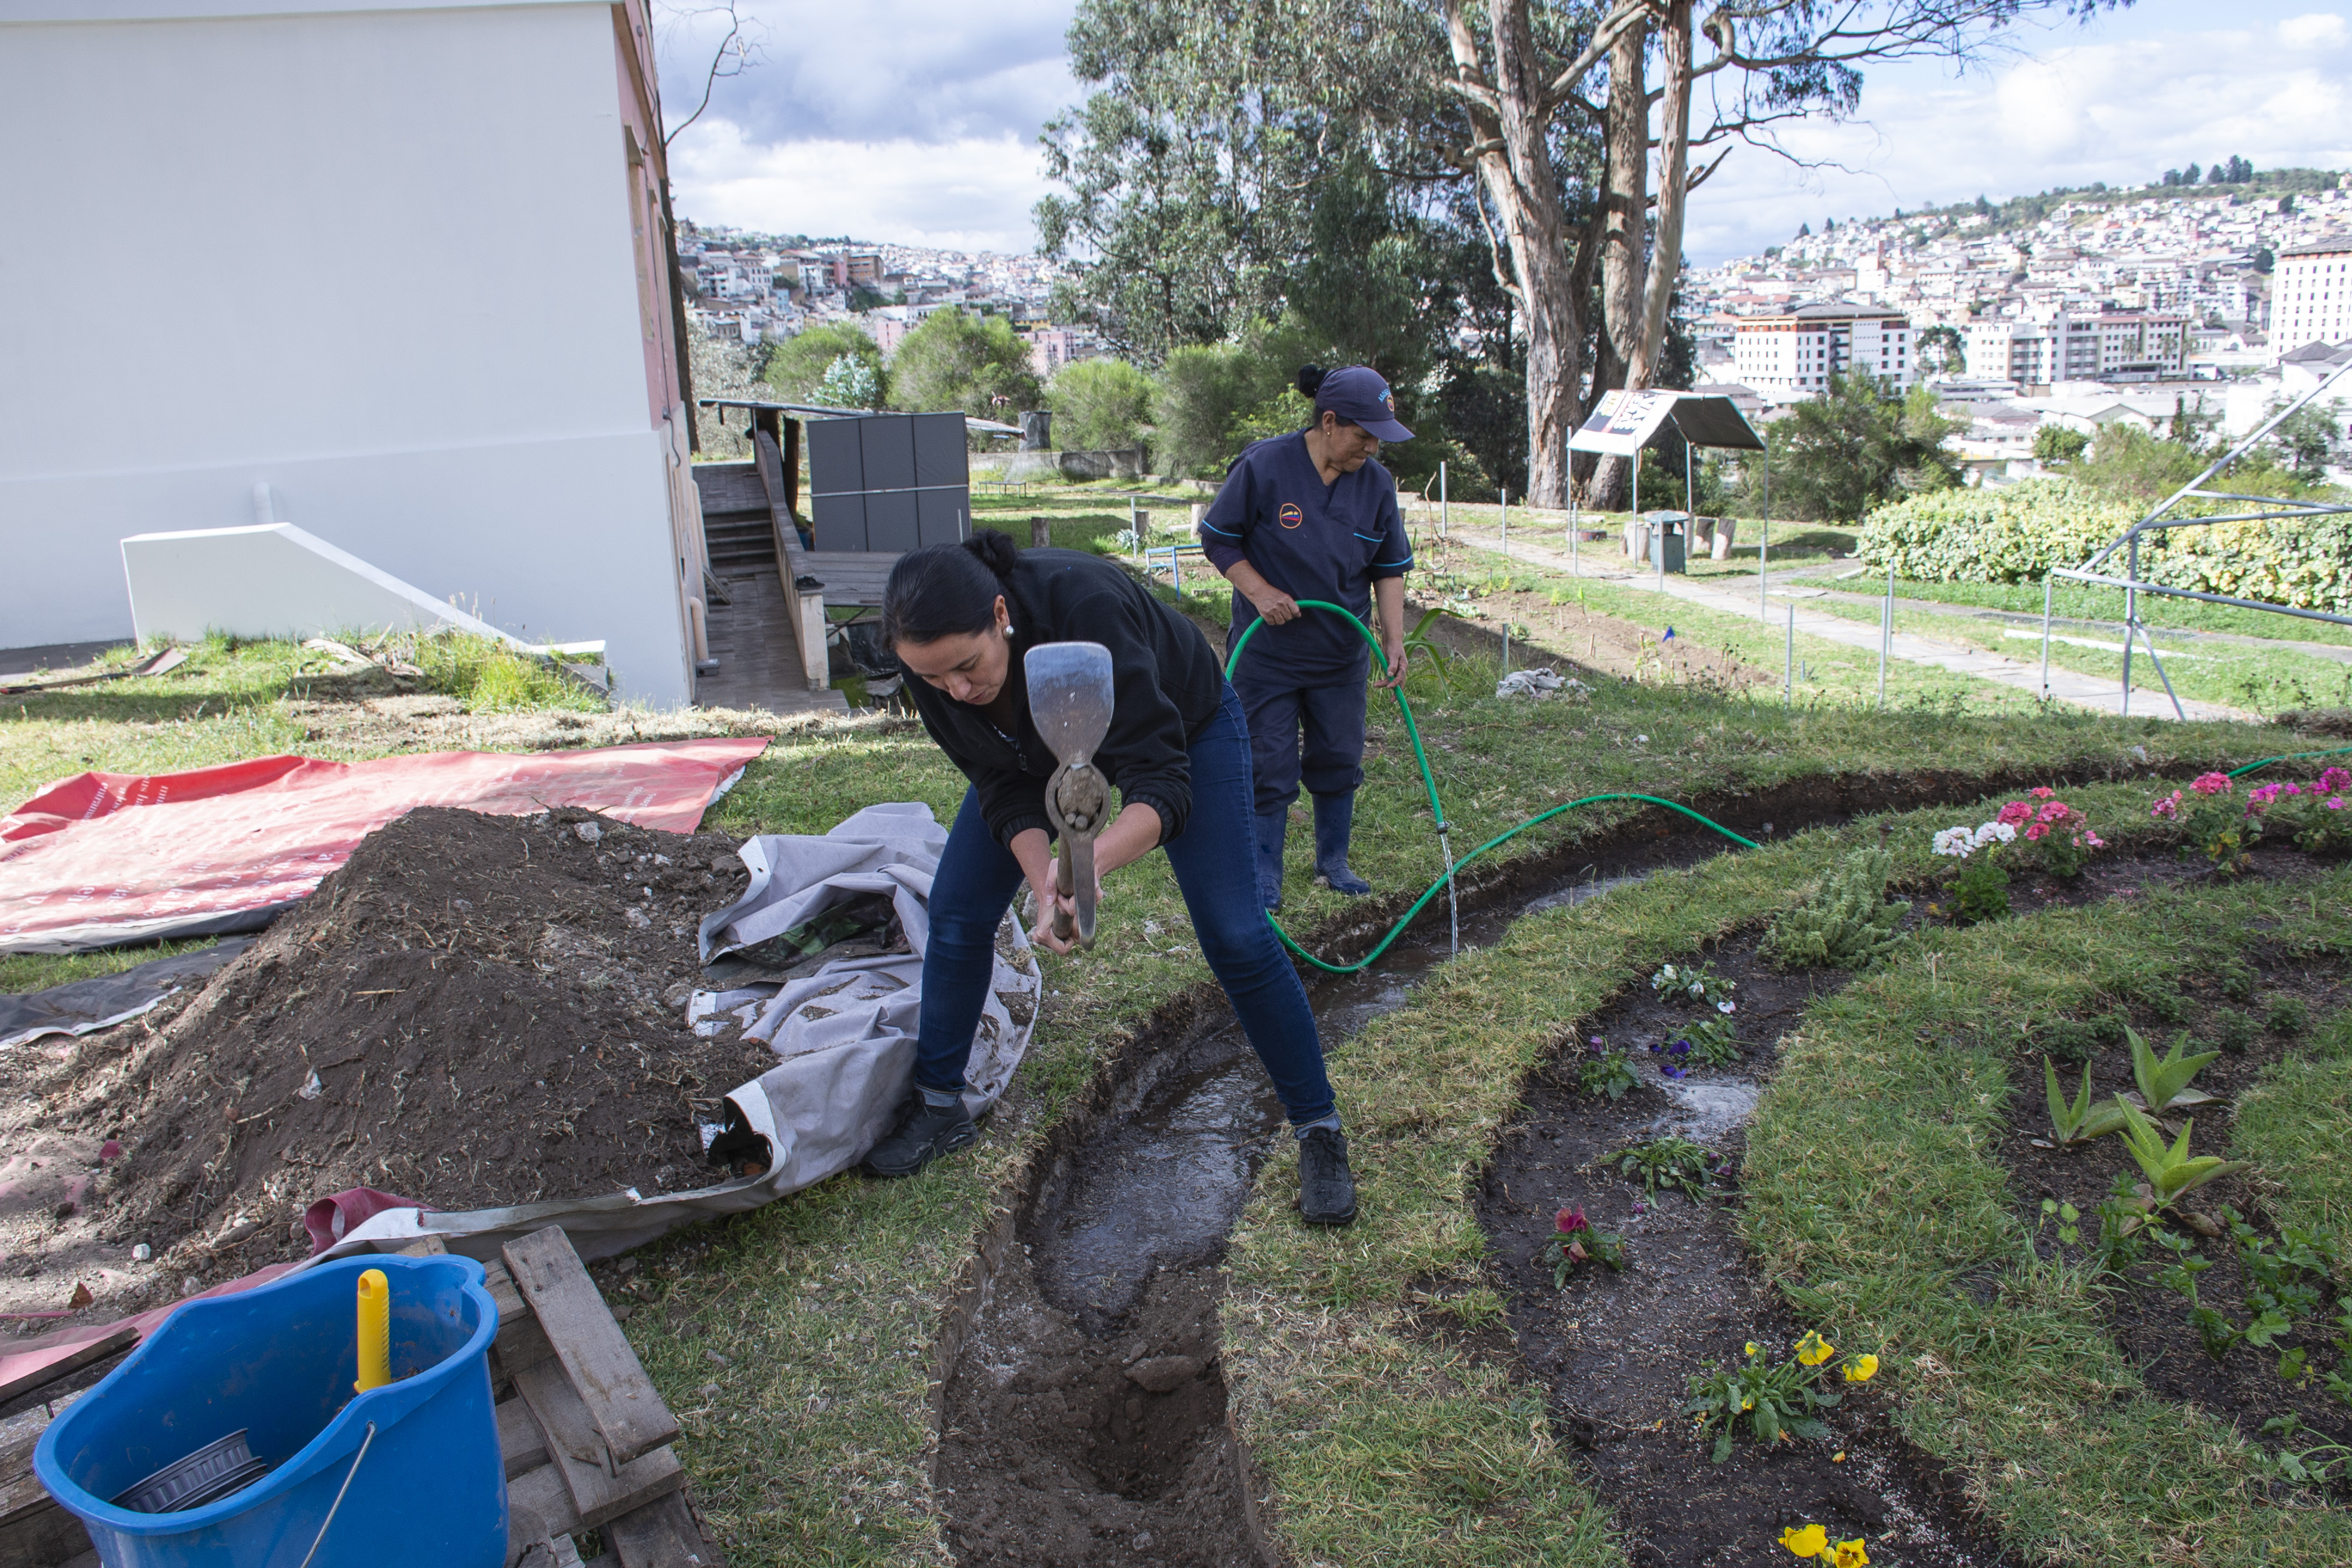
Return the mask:
[[762,146],[710,118],[670,148],[670,179],[696,223],[988,252],[1033,249],[1030,207],[1047,193],[1028,136]]

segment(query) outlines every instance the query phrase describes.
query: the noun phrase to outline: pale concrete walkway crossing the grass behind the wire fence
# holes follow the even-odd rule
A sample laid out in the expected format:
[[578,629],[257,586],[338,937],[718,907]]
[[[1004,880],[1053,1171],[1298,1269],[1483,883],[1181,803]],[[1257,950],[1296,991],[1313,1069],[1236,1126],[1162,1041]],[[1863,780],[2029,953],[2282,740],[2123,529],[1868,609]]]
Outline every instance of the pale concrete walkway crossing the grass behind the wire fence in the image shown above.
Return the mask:
[[[1454,520],[1449,536],[1461,543],[1477,545],[1482,550],[1501,548],[1496,529],[1468,524],[1461,517]],[[1630,562],[1625,562],[1625,555],[1621,552],[1613,536],[1590,548],[1581,548],[1576,552],[1576,564],[1571,567],[1566,550],[1550,543],[1536,543],[1534,538],[1522,536],[1519,529],[1512,529],[1510,559],[1529,562],[1534,567],[1543,567],[1545,571],[1562,571],[1569,576],[1588,576],[1604,583],[1616,583],[1618,588],[1632,588],[1639,592],[1658,592],[1661,583],[1656,571],[1630,571],[1628,569]],[[1792,581],[1795,595],[1780,597],[1778,592],[1773,592],[1771,609],[1759,614],[1755,583],[1750,583],[1748,590],[1740,592],[1738,588],[1715,588],[1712,583],[1698,583],[1672,571],[1663,581],[1665,581],[1665,597],[1670,599],[1698,604],[1703,609],[1712,609],[1726,616],[1762,621],[1771,630],[1785,630],[1790,623],[1790,614],[1795,614],[1797,632],[1804,637],[1820,637],[1823,642],[1837,642],[1849,649],[1863,649],[1865,654],[1879,651],[1879,628],[1865,625],[1860,621],[1844,621],[1839,616],[1825,616],[1820,611],[1806,611],[1795,602],[1799,597],[1820,597],[1828,592],[1813,583],[1797,585]],[[1780,581],[1783,581],[1780,574],[1771,574],[1771,583]],[[1987,654],[1983,649],[1971,649],[1957,642],[1936,642],[1933,637],[1919,637],[1917,632],[1900,632],[1900,630],[1893,635],[1891,654],[1893,658],[1903,658],[1915,665],[1936,665],[1940,670],[1952,670],[1957,675],[1973,675],[1978,679],[1999,682],[2002,686],[2013,686],[2018,691],[2030,691],[2034,696],[2042,696],[2044,691],[2039,654],[2027,663],[2009,658],[2004,654]],[[2070,703],[2074,708],[2089,708],[2093,712],[2124,712],[2122,679],[2100,679],[2096,675],[2082,675],[2077,670],[2060,670],[2058,665],[2051,665],[2049,696],[2060,703]],[[2258,715],[2241,712],[2237,708],[2223,708],[2220,703],[2197,703],[2190,698],[2180,698],[2180,708],[2192,719],[2239,719],[2249,724],[2260,722]],[[2161,691],[2133,689],[2131,717],[2171,719],[2173,705],[2164,698]]]

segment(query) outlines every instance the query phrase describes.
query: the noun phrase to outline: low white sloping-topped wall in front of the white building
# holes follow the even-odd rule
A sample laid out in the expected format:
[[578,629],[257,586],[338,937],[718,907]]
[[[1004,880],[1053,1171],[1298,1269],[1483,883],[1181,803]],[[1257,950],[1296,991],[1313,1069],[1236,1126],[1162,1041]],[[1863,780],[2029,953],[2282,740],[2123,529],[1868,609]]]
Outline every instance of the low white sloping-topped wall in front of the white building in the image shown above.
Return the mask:
[[456,604],[369,567],[350,550],[292,522],[245,529],[132,534],[122,576],[139,639],[322,637],[327,632],[433,630],[449,625],[524,646]]

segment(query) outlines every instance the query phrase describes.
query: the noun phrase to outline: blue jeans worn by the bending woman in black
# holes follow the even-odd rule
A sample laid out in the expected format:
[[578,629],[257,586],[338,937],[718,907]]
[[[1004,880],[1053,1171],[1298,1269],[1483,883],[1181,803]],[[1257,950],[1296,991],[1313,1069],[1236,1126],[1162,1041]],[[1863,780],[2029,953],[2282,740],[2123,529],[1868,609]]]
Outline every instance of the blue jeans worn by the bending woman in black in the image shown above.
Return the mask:
[[[1192,816],[1162,844],[1176,867],[1192,936],[1209,971],[1232,999],[1242,1032],[1265,1063],[1291,1126],[1331,1114],[1322,1039],[1308,990],[1298,983],[1258,903],[1251,837],[1249,722],[1225,689],[1216,717],[1190,748]],[[1044,780],[1037,783],[1040,792]],[[915,1037],[915,1084],[953,1091],[964,1084],[971,1034],[995,969],[997,924],[1021,891],[1021,863],[997,844],[967,790],[931,882],[931,943],[922,952],[922,1013]]]

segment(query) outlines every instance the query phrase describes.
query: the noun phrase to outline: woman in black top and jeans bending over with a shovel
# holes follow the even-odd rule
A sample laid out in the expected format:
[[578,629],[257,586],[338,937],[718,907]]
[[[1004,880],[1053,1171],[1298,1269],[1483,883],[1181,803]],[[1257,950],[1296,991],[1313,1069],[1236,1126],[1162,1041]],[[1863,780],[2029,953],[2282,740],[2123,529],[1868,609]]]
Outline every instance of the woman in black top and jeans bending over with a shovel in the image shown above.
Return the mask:
[[1315,1013],[1258,903],[1249,722],[1200,630],[1101,557],[1016,550],[985,529],[898,557],[882,590],[882,635],[915,677],[906,691],[922,726],[971,788],[931,882],[915,1084],[866,1168],[913,1175],[978,1138],[962,1098],[964,1063],[997,924],[1023,882],[1037,896],[1030,938],[1047,952],[1073,947],[1054,931],[1056,917],[1065,931],[1077,919],[1077,898],[1054,884],[1044,806],[1058,757],[1030,719],[1021,654],[1096,642],[1110,649],[1112,712],[1094,766],[1120,790],[1120,813],[1094,844],[1096,882],[1167,851],[1202,957],[1298,1138],[1301,1215],[1352,1220],[1355,1178]]

